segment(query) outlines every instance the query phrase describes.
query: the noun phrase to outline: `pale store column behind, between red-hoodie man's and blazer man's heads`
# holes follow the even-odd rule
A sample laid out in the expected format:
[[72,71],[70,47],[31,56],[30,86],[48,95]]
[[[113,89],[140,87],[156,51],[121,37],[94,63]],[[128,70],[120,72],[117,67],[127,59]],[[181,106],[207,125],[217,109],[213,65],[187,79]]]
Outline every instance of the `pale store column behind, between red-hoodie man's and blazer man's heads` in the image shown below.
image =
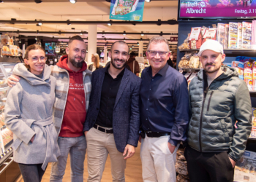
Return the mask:
[[91,64],[91,55],[97,53],[97,25],[89,25],[87,64]]

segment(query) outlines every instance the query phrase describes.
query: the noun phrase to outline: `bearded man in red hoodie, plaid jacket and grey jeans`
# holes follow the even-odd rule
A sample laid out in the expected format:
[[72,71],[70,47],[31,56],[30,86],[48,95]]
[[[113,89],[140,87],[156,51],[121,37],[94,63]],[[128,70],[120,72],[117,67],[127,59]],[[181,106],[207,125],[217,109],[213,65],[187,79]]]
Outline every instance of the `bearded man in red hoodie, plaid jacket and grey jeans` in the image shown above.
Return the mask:
[[[80,36],[69,39],[67,55],[51,66],[51,75],[56,82],[56,101],[53,106],[53,122],[59,133],[58,145],[61,156],[52,163],[50,181],[62,181],[69,154],[71,181],[83,181],[83,163],[86,156],[86,138],[83,124],[91,95],[91,71],[87,70],[86,44]],[[8,84],[18,82],[17,76],[11,76]],[[12,82],[15,81],[15,82]]]

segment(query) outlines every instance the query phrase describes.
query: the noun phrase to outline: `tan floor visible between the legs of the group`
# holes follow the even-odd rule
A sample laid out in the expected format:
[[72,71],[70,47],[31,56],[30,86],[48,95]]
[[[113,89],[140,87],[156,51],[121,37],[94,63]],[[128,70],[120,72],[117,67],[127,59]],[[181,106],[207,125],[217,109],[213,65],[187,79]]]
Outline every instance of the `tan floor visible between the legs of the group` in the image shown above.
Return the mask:
[[[84,165],[85,170],[83,174],[83,179],[86,182],[88,177],[87,159],[84,164],[85,164]],[[48,165],[48,168],[45,171],[45,175],[42,178],[42,182],[50,181],[50,168],[51,168],[51,164]],[[125,181],[126,182],[142,182],[141,172],[142,171],[141,171],[140,143],[139,143],[138,148],[136,148],[135,155],[132,158],[127,159],[127,168],[125,170],[125,178],[126,178]],[[69,182],[69,181],[71,180],[70,180],[70,164],[68,159],[66,173],[64,175],[63,182]],[[112,176],[111,176],[110,158],[108,157],[101,182],[110,182],[110,181],[112,181]],[[16,182],[23,182],[22,177],[20,176],[20,178],[18,178]]]

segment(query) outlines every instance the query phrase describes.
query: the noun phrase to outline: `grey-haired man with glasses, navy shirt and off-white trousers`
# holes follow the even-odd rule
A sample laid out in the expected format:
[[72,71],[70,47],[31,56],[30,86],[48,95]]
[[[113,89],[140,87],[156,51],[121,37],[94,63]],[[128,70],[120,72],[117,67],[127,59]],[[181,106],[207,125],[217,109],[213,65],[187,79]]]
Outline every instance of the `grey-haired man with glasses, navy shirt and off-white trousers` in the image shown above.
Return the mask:
[[150,66],[141,74],[140,158],[145,182],[176,181],[176,151],[189,122],[187,80],[167,64],[168,41],[153,37],[146,52]]

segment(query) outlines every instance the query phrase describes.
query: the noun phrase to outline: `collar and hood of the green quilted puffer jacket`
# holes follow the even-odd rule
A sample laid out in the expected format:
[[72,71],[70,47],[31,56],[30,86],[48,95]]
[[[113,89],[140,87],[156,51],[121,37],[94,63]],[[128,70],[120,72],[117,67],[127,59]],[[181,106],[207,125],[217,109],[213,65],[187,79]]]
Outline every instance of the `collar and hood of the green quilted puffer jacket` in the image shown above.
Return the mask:
[[[235,68],[230,68],[228,66],[222,66],[221,67],[223,73],[218,76],[215,80],[222,80],[222,79],[227,79],[231,76],[237,76],[238,77],[238,73],[236,72]],[[200,70],[197,74],[198,79],[203,80],[203,73],[206,73],[206,71],[204,70]]]

